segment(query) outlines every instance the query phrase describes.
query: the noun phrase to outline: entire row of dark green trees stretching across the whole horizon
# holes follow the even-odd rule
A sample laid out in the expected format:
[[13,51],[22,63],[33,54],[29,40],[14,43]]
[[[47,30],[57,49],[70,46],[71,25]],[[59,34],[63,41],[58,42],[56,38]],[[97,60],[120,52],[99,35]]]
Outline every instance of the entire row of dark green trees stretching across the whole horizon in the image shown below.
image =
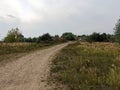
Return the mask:
[[64,41],[74,41],[80,40],[85,42],[118,42],[120,43],[120,19],[117,21],[114,34],[106,34],[106,33],[97,33],[94,32],[90,35],[74,35],[71,32],[65,32],[62,36],[55,35],[52,36],[49,33],[43,34],[39,37],[29,37],[26,38],[20,32],[18,28],[11,29],[8,31],[7,36],[4,38],[4,42],[12,43],[12,42],[64,42]]

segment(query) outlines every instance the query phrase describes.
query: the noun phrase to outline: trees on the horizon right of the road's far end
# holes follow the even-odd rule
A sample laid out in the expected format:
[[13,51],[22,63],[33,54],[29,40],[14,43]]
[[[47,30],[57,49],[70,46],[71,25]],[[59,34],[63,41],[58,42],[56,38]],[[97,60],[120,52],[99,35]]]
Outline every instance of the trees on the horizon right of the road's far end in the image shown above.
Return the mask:
[[114,27],[114,34],[97,33],[94,32],[91,35],[79,35],[79,40],[86,42],[118,42],[120,43],[120,19],[117,21]]

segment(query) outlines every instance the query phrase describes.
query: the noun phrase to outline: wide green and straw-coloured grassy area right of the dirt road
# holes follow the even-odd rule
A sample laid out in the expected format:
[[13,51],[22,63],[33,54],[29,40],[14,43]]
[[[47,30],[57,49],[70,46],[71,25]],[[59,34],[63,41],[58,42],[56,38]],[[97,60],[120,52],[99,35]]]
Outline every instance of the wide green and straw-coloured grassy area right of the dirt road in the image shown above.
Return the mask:
[[120,90],[120,47],[75,43],[53,60],[52,77],[68,90]]

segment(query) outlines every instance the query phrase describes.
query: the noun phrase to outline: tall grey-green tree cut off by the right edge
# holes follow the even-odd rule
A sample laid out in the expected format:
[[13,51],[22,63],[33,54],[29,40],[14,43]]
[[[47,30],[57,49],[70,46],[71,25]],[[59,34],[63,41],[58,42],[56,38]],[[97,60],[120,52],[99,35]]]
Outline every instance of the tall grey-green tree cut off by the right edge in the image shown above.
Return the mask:
[[118,43],[120,43],[120,19],[118,20],[117,24],[115,25],[115,39]]

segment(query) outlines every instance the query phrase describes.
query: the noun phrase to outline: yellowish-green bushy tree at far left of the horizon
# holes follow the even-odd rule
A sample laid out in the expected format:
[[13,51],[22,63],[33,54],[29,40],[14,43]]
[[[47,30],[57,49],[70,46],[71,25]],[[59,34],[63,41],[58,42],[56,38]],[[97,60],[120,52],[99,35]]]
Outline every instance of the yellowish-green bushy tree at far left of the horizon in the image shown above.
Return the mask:
[[18,28],[15,28],[8,31],[7,36],[4,38],[4,42],[22,42],[23,39],[24,36],[22,35],[22,33],[19,31]]

